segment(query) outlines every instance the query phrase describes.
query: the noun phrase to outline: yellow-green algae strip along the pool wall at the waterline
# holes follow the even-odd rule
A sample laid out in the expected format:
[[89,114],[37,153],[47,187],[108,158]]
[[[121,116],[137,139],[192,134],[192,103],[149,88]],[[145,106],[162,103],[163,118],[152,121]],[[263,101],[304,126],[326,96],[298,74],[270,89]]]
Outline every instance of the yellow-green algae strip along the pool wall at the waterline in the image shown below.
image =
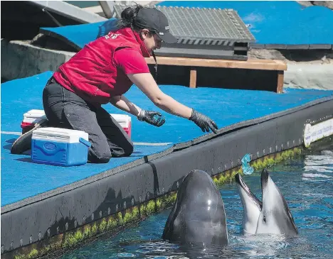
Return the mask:
[[[287,160],[300,155],[302,148],[292,148],[290,150],[282,151],[281,153],[275,153],[266,155],[263,158],[258,158],[250,162],[250,165],[255,170],[262,170],[263,168],[271,167],[278,162]],[[213,175],[213,181],[217,186],[221,186],[226,182],[233,182],[235,175],[240,173],[243,175],[241,166],[234,167],[231,170],[218,172],[217,175]],[[177,192],[169,192],[156,199],[151,199],[147,202],[143,202],[137,206],[133,206],[125,211],[119,211],[117,214],[106,216],[105,218],[93,221],[90,224],[79,226],[71,231],[60,233],[57,236],[53,236],[39,243],[33,243],[25,248],[20,248],[14,251],[13,255],[9,255],[8,258],[16,259],[33,259],[45,256],[48,253],[54,253],[60,251],[64,253],[67,250],[73,249],[79,246],[83,242],[90,241],[91,238],[95,238],[100,235],[112,235],[117,233],[122,228],[134,224],[140,220],[143,220],[147,216],[157,213],[161,210],[169,208],[176,201]],[[7,258],[7,254],[3,254],[4,258]]]

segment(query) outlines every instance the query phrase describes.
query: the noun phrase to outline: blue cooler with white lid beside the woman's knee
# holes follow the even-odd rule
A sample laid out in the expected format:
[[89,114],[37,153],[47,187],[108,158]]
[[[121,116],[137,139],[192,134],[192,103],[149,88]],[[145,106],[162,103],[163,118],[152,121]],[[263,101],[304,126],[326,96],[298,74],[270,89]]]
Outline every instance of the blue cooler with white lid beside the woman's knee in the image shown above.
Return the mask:
[[31,159],[48,165],[85,165],[88,133],[66,128],[38,128],[33,131]]

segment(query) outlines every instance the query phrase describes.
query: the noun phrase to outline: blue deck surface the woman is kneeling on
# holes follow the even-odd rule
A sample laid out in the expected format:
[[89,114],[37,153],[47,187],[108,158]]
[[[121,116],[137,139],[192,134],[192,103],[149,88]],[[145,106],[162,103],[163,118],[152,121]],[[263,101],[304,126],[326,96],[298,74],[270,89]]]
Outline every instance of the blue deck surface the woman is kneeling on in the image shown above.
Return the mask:
[[[134,153],[129,158],[112,158],[107,164],[86,164],[80,167],[40,165],[33,163],[29,155],[11,155],[11,143],[17,135],[9,132],[21,131],[20,123],[26,111],[43,109],[42,91],[51,75],[52,72],[44,72],[1,84],[1,206],[83,180],[144,155],[162,152],[171,146],[135,145]],[[305,89],[285,89],[284,94],[276,94],[216,88],[190,89],[169,85],[160,87],[174,99],[210,116],[220,128],[285,111],[324,97],[333,98],[333,91]],[[135,86],[125,96],[143,109],[161,111],[166,118],[164,126],[156,128],[132,116],[132,140],[135,143],[181,143],[204,134],[193,122],[157,109]],[[104,107],[110,113],[123,114],[110,104]]]

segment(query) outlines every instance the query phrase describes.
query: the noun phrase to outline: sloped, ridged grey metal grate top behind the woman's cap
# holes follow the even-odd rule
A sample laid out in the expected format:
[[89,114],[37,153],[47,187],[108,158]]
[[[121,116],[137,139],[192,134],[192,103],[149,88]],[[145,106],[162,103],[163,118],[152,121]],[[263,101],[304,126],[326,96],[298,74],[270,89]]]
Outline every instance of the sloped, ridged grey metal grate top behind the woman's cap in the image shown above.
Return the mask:
[[[196,44],[221,44],[220,41],[251,43],[255,38],[238,13],[232,9],[200,9],[156,6],[169,20],[170,31],[179,42],[192,40]],[[208,40],[210,40],[208,42]]]

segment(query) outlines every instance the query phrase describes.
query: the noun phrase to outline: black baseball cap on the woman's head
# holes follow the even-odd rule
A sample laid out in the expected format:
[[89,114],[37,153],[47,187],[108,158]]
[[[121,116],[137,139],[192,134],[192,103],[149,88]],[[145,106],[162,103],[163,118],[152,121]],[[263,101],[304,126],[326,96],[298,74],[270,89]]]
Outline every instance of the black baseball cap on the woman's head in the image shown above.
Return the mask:
[[149,31],[153,31],[165,43],[177,42],[177,38],[169,31],[168,18],[156,8],[139,9],[135,17],[135,25],[139,28],[147,28]]

